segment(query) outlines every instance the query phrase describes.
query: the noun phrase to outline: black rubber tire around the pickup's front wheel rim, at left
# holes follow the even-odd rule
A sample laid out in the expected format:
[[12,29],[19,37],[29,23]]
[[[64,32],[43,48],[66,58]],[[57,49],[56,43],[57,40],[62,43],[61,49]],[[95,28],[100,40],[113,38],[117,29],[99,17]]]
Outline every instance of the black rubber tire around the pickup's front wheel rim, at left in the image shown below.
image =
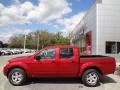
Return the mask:
[[[22,74],[23,79],[21,80],[21,82],[15,83],[15,82],[12,80],[12,74],[13,74],[14,72],[20,72],[20,73]],[[9,72],[9,74],[8,74],[8,79],[9,79],[9,82],[10,82],[12,85],[14,85],[14,86],[20,86],[20,85],[23,85],[23,84],[25,83],[25,81],[26,81],[26,73],[25,73],[25,71],[24,71],[23,69],[14,68],[14,69],[12,69],[12,70]]]

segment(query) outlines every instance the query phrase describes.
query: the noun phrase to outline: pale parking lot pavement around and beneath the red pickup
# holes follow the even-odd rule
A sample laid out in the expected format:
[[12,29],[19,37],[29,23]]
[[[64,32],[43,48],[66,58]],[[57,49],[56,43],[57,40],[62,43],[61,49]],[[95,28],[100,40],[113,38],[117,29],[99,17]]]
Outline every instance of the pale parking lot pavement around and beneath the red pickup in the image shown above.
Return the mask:
[[[21,54],[30,55],[30,54]],[[119,90],[120,76],[108,75],[102,78],[98,87],[86,87],[79,79],[31,79],[24,86],[12,86],[3,75],[2,68],[7,60],[21,56],[0,56],[0,90]]]

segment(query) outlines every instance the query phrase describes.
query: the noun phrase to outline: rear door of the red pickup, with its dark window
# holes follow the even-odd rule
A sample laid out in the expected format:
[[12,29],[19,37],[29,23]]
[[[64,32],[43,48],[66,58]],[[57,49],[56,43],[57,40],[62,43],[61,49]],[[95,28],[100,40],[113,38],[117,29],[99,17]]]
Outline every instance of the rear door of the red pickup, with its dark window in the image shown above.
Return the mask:
[[58,76],[75,77],[79,72],[79,63],[73,48],[60,48],[57,61]]

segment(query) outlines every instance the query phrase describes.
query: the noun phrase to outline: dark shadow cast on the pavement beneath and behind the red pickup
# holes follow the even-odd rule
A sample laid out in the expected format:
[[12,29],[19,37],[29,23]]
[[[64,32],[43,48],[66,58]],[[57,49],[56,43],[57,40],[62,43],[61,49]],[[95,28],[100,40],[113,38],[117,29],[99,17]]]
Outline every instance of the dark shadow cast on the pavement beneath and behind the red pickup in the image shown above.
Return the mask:
[[[109,76],[103,76],[100,80],[104,83],[117,83],[114,79]],[[47,83],[47,84],[82,84],[81,78],[33,78],[29,79],[26,85],[35,83]]]

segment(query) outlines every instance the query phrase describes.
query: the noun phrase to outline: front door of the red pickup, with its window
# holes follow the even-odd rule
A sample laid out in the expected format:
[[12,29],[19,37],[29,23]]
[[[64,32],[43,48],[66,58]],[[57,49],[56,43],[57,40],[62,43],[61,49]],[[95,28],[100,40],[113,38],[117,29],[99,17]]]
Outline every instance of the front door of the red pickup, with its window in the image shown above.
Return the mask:
[[31,64],[33,75],[37,77],[55,77],[56,76],[56,49],[50,48],[42,50],[38,55],[40,60],[34,60]]

